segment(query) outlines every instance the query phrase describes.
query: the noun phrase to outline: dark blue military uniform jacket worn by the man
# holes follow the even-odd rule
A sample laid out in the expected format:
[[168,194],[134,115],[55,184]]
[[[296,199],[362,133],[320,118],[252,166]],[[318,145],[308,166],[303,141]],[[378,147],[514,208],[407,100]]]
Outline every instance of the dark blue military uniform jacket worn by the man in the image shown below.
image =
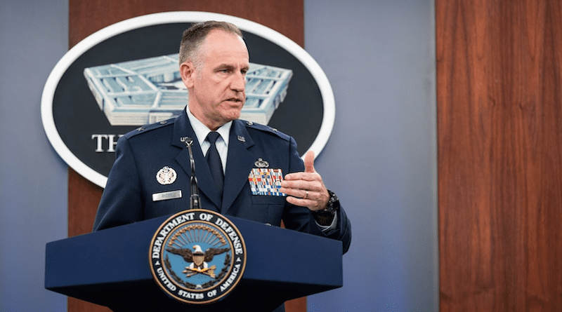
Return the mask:
[[[182,137],[193,139],[201,208],[274,226],[280,226],[283,220],[287,229],[341,240],[344,252],[348,250],[351,224],[342,208],[338,211],[336,229],[322,232],[308,208],[289,204],[283,196],[251,194],[248,176],[251,169],[257,167],[259,158],[266,161],[269,168],[281,168],[283,175],[304,170],[292,137],[268,126],[233,121],[221,200],[185,110],[178,118],[143,126],[119,139],[94,231],[190,208],[189,151]],[[166,166],[176,172],[176,180],[171,184],[161,184],[157,179],[159,170]],[[155,201],[154,194],[174,196]]]

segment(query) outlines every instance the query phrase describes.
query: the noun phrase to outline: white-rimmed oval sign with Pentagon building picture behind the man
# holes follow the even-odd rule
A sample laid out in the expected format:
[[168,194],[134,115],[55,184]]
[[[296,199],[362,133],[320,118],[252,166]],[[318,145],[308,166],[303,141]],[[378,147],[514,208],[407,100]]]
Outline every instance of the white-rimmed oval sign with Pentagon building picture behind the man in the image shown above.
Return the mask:
[[[292,135],[301,155],[308,149],[320,154],[334,127],[335,99],[326,74],[306,50],[273,29],[235,16],[162,12],[91,34],[48,76],[41,121],[49,142],[70,167],[105,187],[119,137],[181,113],[188,90],[178,79],[178,45],[183,31],[203,20],[232,22],[244,32],[249,50],[267,51],[256,53],[259,62],[249,65],[240,118]],[[306,118],[292,118],[302,114]],[[88,123],[82,122],[86,119]],[[244,140],[241,136],[236,142]]]

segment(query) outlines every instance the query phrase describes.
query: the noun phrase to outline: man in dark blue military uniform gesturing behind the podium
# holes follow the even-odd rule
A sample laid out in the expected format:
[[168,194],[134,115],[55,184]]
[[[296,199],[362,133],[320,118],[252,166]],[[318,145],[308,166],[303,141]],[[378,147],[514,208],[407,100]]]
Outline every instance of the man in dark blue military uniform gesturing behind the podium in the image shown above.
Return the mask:
[[[94,231],[188,209],[189,137],[202,208],[274,226],[283,220],[287,229],[341,240],[346,252],[351,224],[315,172],[313,152],[303,162],[292,137],[238,119],[249,69],[240,30],[227,22],[193,25],[183,34],[179,62],[188,106],[175,119],[119,139]],[[252,195],[252,168],[280,168],[279,191],[287,196]]]

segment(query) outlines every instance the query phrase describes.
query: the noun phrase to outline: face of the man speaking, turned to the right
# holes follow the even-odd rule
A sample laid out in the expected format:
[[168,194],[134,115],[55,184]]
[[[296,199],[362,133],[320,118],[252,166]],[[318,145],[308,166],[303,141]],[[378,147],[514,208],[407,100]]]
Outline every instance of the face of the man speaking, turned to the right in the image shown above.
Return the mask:
[[193,116],[211,130],[240,117],[246,101],[249,55],[236,34],[212,30],[200,46],[201,65],[180,65]]

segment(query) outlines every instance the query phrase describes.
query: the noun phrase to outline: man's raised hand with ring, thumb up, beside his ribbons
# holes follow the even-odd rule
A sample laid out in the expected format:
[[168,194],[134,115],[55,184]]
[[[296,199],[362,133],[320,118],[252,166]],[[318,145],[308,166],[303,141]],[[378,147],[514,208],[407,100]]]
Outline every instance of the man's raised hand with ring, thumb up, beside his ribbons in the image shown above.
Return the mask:
[[279,191],[287,194],[287,201],[293,205],[317,211],[326,208],[329,200],[328,190],[322,177],[314,170],[314,152],[304,156],[304,172],[285,175]]

